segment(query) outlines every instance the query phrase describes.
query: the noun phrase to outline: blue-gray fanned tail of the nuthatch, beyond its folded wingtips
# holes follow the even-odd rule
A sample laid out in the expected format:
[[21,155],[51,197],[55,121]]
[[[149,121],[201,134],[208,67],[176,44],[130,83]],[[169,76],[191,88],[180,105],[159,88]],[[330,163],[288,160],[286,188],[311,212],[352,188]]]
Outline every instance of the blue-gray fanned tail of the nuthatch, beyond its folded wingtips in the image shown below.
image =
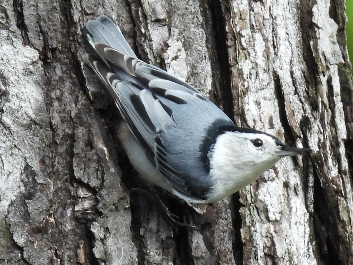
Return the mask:
[[137,58],[116,23],[106,15],[99,16],[95,20],[87,22],[86,37],[92,47],[94,47],[95,42],[100,42]]

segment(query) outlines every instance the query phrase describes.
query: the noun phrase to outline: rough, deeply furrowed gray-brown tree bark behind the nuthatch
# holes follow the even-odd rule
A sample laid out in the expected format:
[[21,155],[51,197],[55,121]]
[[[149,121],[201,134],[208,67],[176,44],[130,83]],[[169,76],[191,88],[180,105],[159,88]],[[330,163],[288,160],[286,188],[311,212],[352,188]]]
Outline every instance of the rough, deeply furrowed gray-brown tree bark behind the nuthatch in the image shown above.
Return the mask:
[[[344,1],[0,1],[0,264],[353,264],[353,90]],[[85,65],[115,19],[139,57],[234,121],[312,148],[203,215],[164,222]]]

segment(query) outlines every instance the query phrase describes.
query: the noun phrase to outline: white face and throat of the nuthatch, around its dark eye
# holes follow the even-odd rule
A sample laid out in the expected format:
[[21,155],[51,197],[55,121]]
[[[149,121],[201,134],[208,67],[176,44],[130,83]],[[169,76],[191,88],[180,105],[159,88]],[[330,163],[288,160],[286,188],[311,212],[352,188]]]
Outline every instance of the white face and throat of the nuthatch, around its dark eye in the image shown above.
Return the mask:
[[217,201],[254,182],[280,159],[281,146],[273,137],[261,133],[228,131],[217,137],[210,152],[210,175]]

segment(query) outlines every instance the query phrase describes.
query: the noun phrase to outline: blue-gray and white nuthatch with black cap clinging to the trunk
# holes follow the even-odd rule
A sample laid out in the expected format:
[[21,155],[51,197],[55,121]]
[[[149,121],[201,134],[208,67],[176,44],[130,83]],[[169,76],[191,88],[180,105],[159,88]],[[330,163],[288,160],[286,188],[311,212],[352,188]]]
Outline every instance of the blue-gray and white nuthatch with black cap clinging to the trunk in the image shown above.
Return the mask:
[[125,120],[119,137],[131,164],[186,202],[216,202],[254,182],[281,157],[310,150],[235,126],[197,89],[137,59],[109,17],[90,20],[85,36],[99,55],[89,54],[89,64]]

